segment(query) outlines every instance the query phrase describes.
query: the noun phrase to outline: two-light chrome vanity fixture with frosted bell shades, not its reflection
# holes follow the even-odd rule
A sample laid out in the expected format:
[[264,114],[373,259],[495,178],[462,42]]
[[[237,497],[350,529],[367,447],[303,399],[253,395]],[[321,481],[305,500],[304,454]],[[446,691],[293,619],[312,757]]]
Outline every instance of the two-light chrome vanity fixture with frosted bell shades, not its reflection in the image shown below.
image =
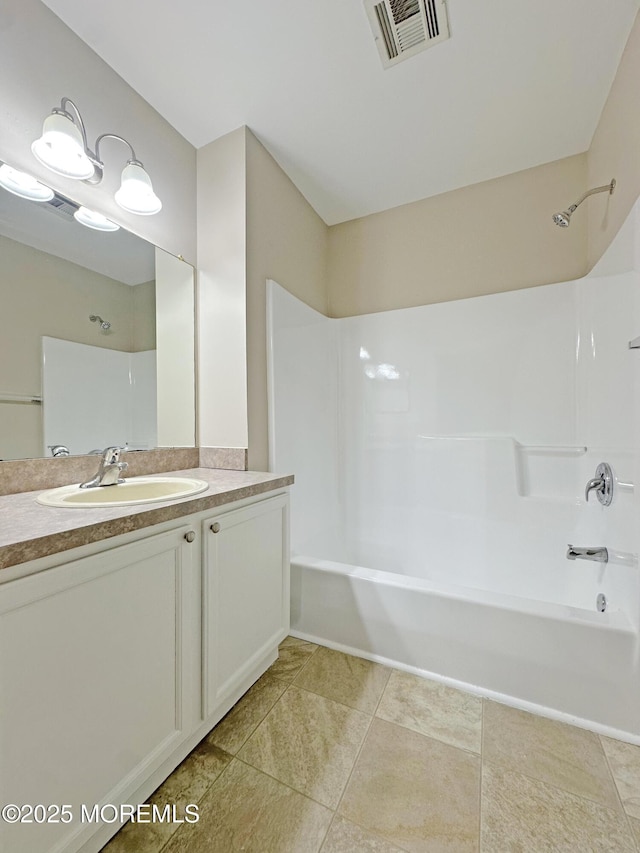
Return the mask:
[[136,157],[130,142],[116,133],[103,133],[95,142],[95,152],[89,148],[87,132],[80,111],[70,98],[63,98],[54,107],[42,126],[42,136],[31,146],[31,151],[52,172],[65,178],[99,184],[104,174],[100,158],[103,139],[117,139],[129,148],[131,157],[122,172],[120,189],[115,194],[116,203],[129,213],[151,216],[162,209],[162,202],[154,193],[151,179]]

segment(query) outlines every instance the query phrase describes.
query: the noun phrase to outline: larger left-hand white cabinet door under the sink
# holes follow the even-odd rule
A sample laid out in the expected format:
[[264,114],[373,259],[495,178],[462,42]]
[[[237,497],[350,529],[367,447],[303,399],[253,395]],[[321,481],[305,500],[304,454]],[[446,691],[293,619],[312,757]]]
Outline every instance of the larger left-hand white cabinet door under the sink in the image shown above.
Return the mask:
[[0,821],[1,850],[77,850],[97,829],[81,822],[82,804],[130,802],[189,734],[190,529],[0,587],[0,803],[68,805],[73,816]]

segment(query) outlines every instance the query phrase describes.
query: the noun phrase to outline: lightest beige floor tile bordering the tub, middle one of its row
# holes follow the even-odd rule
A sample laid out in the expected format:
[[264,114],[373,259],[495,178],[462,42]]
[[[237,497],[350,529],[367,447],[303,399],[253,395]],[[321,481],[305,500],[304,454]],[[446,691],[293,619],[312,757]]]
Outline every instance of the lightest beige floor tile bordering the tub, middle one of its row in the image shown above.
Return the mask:
[[482,699],[394,670],[376,716],[452,746],[480,752]]

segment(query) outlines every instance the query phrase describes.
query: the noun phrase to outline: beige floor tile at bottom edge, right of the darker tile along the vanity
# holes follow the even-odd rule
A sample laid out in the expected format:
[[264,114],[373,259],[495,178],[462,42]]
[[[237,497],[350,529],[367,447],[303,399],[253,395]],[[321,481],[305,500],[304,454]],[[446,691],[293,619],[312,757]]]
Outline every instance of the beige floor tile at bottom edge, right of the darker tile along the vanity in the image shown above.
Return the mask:
[[317,853],[331,822],[324,806],[237,759],[162,853]]

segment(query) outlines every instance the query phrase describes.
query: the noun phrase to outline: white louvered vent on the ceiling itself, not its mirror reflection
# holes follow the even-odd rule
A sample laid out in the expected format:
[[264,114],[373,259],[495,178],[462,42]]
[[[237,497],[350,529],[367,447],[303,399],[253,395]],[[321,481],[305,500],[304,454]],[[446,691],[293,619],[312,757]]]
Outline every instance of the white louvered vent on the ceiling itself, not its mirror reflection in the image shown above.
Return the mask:
[[365,0],[385,68],[449,38],[444,0]]

